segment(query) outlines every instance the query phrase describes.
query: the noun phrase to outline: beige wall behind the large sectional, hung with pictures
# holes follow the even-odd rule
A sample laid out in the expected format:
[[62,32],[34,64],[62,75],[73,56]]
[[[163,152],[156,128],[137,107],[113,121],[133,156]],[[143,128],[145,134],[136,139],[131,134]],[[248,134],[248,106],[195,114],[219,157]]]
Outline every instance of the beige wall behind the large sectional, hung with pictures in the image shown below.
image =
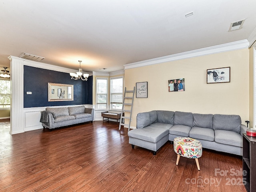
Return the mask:
[[[229,67],[230,83],[206,84],[206,70]],[[168,92],[168,80],[185,78],[184,92]],[[125,70],[125,86],[148,82],[148,98],[134,98],[136,115],[150,110],[238,114],[249,120],[249,50],[242,49]]]

